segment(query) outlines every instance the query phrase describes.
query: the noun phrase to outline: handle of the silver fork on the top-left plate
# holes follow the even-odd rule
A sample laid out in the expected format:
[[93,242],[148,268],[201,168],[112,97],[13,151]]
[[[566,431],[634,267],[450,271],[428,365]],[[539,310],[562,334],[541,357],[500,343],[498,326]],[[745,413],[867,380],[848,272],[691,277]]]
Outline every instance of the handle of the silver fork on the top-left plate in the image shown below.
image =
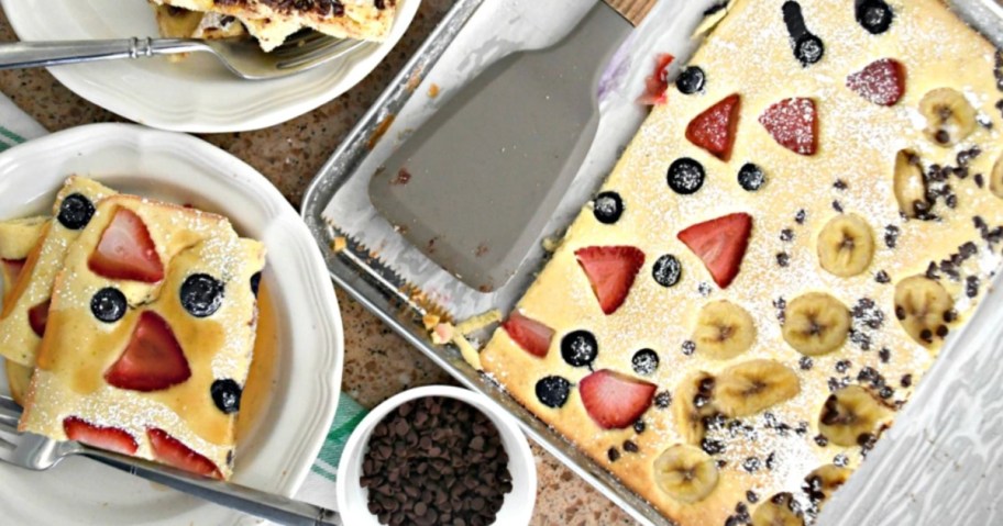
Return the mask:
[[21,69],[205,51],[191,38],[13,42],[0,44],[0,69]]

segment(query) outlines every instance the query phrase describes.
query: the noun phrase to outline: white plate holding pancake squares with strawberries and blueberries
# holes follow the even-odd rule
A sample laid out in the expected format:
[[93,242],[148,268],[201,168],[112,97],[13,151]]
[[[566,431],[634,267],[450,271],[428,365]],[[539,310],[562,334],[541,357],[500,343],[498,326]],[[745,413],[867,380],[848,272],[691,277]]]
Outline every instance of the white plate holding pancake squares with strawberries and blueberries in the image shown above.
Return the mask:
[[[327,268],[296,211],[257,171],[208,143],[134,125],[95,124],[0,154],[0,220],[44,212],[71,174],[123,192],[222,213],[241,234],[265,244],[263,279],[278,332],[276,370],[269,403],[238,448],[234,481],[291,495],[310,471],[334,416],[344,354]],[[0,465],[0,488],[2,524],[253,522],[79,458],[45,473]]]

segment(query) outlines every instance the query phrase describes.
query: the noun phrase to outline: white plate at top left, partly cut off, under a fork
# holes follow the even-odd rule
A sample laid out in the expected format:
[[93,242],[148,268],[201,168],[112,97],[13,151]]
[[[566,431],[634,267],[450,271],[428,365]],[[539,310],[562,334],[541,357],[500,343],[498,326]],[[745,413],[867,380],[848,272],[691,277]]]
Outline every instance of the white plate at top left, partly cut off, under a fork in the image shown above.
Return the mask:
[[[117,60],[51,68],[80,97],[148,126],[192,133],[241,132],[302,115],[365,78],[400,40],[420,0],[398,0],[390,36],[294,77],[241,80],[209,56]],[[144,0],[0,0],[23,41],[156,36]]]

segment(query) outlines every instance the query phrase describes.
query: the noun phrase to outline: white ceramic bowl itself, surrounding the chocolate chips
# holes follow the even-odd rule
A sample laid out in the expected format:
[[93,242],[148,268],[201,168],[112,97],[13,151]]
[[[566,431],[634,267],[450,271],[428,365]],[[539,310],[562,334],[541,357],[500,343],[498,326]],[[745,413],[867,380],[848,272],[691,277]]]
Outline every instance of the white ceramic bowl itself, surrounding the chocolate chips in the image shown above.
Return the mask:
[[338,508],[344,523],[353,526],[379,526],[379,521],[366,507],[368,492],[359,483],[370,435],[373,434],[376,424],[379,424],[386,415],[400,405],[428,396],[465,402],[491,418],[498,428],[498,434],[502,435],[502,444],[508,454],[508,470],[512,477],[512,491],[505,495],[505,502],[502,504],[502,510],[498,511],[495,524],[499,526],[529,524],[533,503],[537,501],[537,465],[529,444],[526,441],[526,435],[519,429],[519,424],[511,415],[486,396],[447,385],[429,385],[405,391],[379,404],[352,433],[338,466],[338,488],[335,490]]

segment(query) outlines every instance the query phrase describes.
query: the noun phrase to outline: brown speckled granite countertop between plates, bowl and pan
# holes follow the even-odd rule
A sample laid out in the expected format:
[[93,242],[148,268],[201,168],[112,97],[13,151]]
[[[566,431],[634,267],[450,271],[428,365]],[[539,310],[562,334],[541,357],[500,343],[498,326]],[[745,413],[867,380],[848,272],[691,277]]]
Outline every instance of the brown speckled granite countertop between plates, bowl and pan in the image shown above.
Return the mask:
[[[280,126],[257,132],[203,135],[202,138],[255,167],[298,206],[307,184],[418,48],[452,0],[425,0],[397,47],[362,83],[339,99]],[[0,40],[16,36],[0,13]],[[0,91],[47,130],[123,121],[80,99],[44,70],[0,71]],[[345,331],[344,390],[367,407],[397,392],[431,383],[452,383],[389,327],[338,291]],[[533,446],[539,489],[533,525],[619,525],[632,519],[549,454]]]

